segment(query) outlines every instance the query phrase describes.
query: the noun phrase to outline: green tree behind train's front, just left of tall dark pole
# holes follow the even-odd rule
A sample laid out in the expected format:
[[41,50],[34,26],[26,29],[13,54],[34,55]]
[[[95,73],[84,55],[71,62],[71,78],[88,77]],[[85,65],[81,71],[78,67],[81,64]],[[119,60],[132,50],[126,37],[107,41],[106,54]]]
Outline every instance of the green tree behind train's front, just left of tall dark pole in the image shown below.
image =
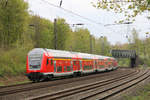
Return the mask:
[[32,16],[30,26],[32,27],[30,35],[32,37],[34,47],[54,48],[53,23],[50,20],[41,18],[40,16]]

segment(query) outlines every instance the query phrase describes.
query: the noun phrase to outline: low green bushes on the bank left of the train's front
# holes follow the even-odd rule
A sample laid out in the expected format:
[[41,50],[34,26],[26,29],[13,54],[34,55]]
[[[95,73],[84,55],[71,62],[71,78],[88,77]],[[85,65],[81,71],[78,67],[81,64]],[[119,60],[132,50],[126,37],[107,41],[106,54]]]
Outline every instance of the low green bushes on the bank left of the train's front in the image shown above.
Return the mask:
[[0,76],[24,74],[28,51],[29,50],[23,48],[14,48],[10,50],[0,49]]

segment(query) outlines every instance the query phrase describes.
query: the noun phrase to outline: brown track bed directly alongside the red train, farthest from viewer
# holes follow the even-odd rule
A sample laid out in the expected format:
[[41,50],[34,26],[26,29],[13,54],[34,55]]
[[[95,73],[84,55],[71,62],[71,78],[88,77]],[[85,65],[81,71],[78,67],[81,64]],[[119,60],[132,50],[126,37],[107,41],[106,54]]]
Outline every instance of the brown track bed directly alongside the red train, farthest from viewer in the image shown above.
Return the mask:
[[[103,73],[103,74],[95,74],[95,75],[89,75],[89,76],[84,76],[84,77],[79,77],[79,78],[70,78],[70,79],[64,79],[64,80],[57,80],[57,81],[50,81],[50,82],[41,82],[41,83],[31,83],[31,84],[25,84],[25,85],[15,85],[15,86],[8,86],[8,87],[3,87],[0,89],[0,97],[7,96],[10,94],[17,94],[20,92],[27,92],[29,90],[34,90],[34,89],[40,89],[40,88],[47,88],[51,86],[57,86],[60,84],[68,84],[68,83],[73,83],[76,81],[82,81],[82,80],[90,80],[93,79],[94,77],[99,77],[99,78],[107,78],[107,77],[115,77],[118,76],[122,73],[122,76],[127,75],[127,74],[132,74],[133,72],[136,71],[131,71],[129,70],[127,73],[123,73],[123,71],[116,70],[108,73]],[[116,73],[116,74],[115,74]],[[104,82],[104,81],[103,81]]]

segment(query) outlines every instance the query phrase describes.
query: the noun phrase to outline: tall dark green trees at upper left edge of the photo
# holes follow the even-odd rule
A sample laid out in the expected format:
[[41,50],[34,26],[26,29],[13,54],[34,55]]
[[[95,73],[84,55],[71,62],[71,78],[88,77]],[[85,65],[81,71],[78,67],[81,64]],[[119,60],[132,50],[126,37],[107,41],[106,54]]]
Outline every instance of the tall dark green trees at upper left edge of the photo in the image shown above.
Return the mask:
[[12,46],[23,39],[22,36],[28,26],[28,17],[28,4],[24,0],[0,1],[1,47]]

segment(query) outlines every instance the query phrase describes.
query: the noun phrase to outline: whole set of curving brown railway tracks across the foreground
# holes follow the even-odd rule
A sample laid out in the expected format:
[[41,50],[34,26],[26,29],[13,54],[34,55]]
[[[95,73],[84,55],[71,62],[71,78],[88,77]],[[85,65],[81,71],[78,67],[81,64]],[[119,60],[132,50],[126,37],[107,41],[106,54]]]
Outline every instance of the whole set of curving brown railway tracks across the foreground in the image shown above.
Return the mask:
[[[28,91],[39,91],[41,88],[50,88],[74,84],[82,80],[89,81],[89,84],[84,83],[76,87],[64,88],[52,92],[43,93],[41,95],[25,96],[27,100],[104,100],[108,99],[119,92],[122,92],[141,81],[150,77],[149,70],[138,69],[123,69],[119,68],[116,71],[93,74],[84,77],[68,78],[63,80],[54,80],[41,83],[30,83],[22,85],[14,85],[0,88],[0,99],[9,99],[17,94],[26,95]],[[96,78],[101,78],[99,81],[92,82]],[[75,86],[75,85],[74,85]],[[23,98],[22,98],[23,99]],[[17,98],[15,99],[17,100]],[[20,100],[20,98],[18,99]]]

